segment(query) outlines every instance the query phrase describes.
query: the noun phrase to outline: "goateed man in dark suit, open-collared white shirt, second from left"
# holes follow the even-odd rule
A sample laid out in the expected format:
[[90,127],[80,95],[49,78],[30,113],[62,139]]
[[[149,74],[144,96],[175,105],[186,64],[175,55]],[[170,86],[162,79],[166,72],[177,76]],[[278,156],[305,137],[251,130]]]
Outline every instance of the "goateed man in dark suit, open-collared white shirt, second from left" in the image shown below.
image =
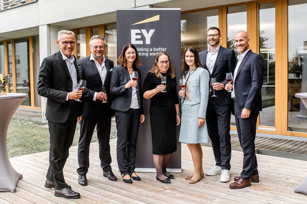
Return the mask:
[[[114,63],[103,56],[105,51],[104,37],[94,35],[89,41],[89,46],[91,55],[77,60],[81,78],[87,81],[86,89],[83,91],[84,112],[83,120],[80,122],[79,168],[77,169],[79,174],[78,183],[83,186],[87,185],[86,174],[89,167],[89,148],[95,126],[97,126],[99,158],[103,176],[111,181],[117,180],[110,165],[112,160],[109,144],[111,117],[113,114],[110,108],[110,81]],[[106,93],[101,91],[102,87],[106,88]],[[107,100],[107,102],[102,103],[104,100]]]

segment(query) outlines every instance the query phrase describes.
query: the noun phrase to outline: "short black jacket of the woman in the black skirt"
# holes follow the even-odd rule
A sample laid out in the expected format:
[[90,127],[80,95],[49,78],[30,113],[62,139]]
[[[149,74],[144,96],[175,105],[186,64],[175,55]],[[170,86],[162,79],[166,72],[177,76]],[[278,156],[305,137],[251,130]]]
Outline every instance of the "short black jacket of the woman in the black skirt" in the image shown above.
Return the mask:
[[[144,98],[144,93],[148,90],[152,90],[156,88],[158,85],[161,85],[161,78],[157,78],[157,76],[148,72],[146,78],[144,80],[143,88],[142,88],[142,98]],[[150,105],[155,106],[165,106],[167,105],[167,99],[170,96],[173,105],[179,104],[178,96],[177,96],[177,80],[176,77],[171,78],[170,74],[166,75],[166,93],[157,93],[150,99]],[[145,98],[144,98],[145,99]]]

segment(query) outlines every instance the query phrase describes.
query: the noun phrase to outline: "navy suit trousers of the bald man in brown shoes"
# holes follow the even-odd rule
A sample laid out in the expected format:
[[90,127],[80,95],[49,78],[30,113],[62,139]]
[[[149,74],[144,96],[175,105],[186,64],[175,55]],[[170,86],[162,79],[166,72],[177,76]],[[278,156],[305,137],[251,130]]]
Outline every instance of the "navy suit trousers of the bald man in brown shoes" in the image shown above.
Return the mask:
[[259,113],[251,113],[248,118],[235,117],[240,145],[243,149],[243,179],[251,178],[251,175],[258,175],[258,164],[255,154],[256,123]]

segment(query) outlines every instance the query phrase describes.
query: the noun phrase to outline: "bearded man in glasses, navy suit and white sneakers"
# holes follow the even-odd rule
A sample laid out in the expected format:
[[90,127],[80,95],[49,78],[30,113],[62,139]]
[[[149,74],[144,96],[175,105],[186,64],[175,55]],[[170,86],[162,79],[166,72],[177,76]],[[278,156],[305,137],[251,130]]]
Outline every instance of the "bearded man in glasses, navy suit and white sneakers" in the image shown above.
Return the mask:
[[[230,116],[231,98],[230,93],[224,90],[227,84],[226,73],[233,73],[235,64],[235,52],[223,48],[220,45],[221,33],[217,27],[210,27],[207,31],[208,49],[199,53],[200,62],[210,73],[210,78],[216,78],[214,85],[218,97],[210,97],[206,113],[208,135],[211,140],[216,165],[206,171],[206,175],[221,174],[220,181],[230,180]],[[208,86],[210,86],[208,84]],[[213,91],[213,90],[212,90]]]

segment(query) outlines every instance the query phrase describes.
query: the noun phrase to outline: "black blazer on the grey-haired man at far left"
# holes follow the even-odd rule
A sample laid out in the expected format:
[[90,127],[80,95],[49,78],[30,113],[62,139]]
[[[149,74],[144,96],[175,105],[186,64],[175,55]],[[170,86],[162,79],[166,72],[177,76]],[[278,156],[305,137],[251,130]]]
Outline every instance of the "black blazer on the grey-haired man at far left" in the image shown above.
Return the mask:
[[[81,79],[79,69],[74,56],[74,65],[77,71],[77,81]],[[46,119],[51,122],[64,123],[67,121],[71,102],[66,101],[68,92],[72,91],[72,78],[70,77],[68,67],[63,60],[61,52],[57,52],[46,57],[38,73],[37,92],[39,95],[47,98]],[[82,115],[84,104],[78,103],[78,116]]]

